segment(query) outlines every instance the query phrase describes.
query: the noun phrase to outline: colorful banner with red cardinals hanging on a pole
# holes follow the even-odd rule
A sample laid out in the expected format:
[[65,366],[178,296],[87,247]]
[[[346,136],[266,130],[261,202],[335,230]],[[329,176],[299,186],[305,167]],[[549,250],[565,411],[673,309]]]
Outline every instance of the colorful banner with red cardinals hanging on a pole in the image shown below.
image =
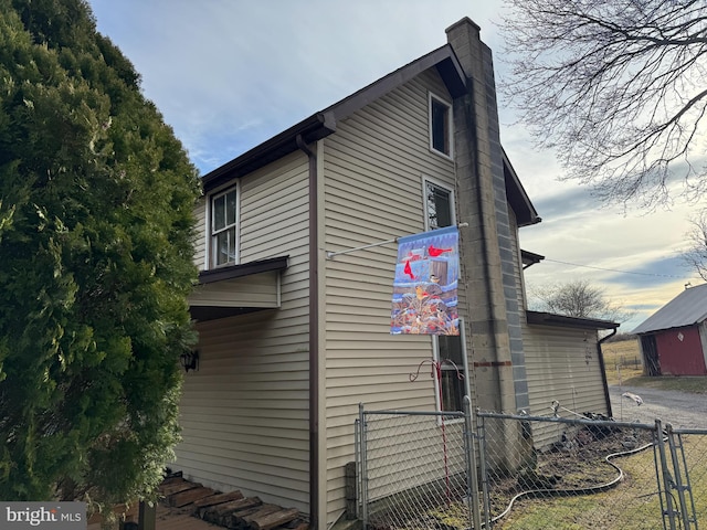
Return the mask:
[[390,332],[460,335],[458,230],[433,230],[398,239]]

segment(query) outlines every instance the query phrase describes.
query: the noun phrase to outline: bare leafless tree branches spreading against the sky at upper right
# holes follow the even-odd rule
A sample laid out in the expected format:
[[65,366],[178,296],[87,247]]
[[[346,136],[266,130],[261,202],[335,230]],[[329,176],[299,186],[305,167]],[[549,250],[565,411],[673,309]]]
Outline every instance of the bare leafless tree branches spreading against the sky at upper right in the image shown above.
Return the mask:
[[566,179],[639,206],[707,189],[707,0],[508,4],[502,91]]

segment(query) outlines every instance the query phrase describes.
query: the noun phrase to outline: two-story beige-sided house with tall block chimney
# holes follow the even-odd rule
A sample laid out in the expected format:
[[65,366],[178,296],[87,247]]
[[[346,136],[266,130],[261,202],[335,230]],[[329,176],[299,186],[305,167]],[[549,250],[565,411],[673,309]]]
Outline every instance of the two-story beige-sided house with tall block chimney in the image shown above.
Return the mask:
[[[430,410],[410,373],[454,358],[484,410],[553,400],[610,413],[598,329],[526,310],[518,229],[540,221],[499,140],[489,49],[463,19],[447,44],[203,177],[199,364],[186,374],[175,468],[296,507],[345,509],[358,404]],[[460,337],[392,335],[395,244],[460,225]],[[372,245],[374,244],[374,245]],[[372,246],[368,246],[372,245]],[[357,252],[341,251],[361,248]],[[456,398],[455,398],[456,396]]]

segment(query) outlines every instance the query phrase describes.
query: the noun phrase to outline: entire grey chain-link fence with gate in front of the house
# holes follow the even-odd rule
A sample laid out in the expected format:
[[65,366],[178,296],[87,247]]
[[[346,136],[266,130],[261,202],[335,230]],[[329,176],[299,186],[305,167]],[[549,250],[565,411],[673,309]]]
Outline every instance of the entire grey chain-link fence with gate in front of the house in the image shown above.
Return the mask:
[[361,405],[356,445],[371,530],[707,524],[707,430]]

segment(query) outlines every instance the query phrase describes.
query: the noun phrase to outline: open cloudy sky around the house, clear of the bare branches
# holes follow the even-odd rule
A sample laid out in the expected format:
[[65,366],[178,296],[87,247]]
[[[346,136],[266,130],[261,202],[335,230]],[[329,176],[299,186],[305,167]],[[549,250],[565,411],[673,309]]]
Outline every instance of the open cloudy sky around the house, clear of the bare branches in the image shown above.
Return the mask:
[[[482,28],[506,80],[498,0],[89,0],[98,31],[141,75],[205,174],[300,119],[446,42],[463,17]],[[524,250],[546,259],[527,283],[587,279],[635,311],[631,331],[701,283],[679,253],[699,205],[654,212],[602,205],[578,183],[560,182],[553,153],[536,149],[499,100],[502,144],[542,222],[520,230]],[[404,235],[404,234],[401,234]]]

